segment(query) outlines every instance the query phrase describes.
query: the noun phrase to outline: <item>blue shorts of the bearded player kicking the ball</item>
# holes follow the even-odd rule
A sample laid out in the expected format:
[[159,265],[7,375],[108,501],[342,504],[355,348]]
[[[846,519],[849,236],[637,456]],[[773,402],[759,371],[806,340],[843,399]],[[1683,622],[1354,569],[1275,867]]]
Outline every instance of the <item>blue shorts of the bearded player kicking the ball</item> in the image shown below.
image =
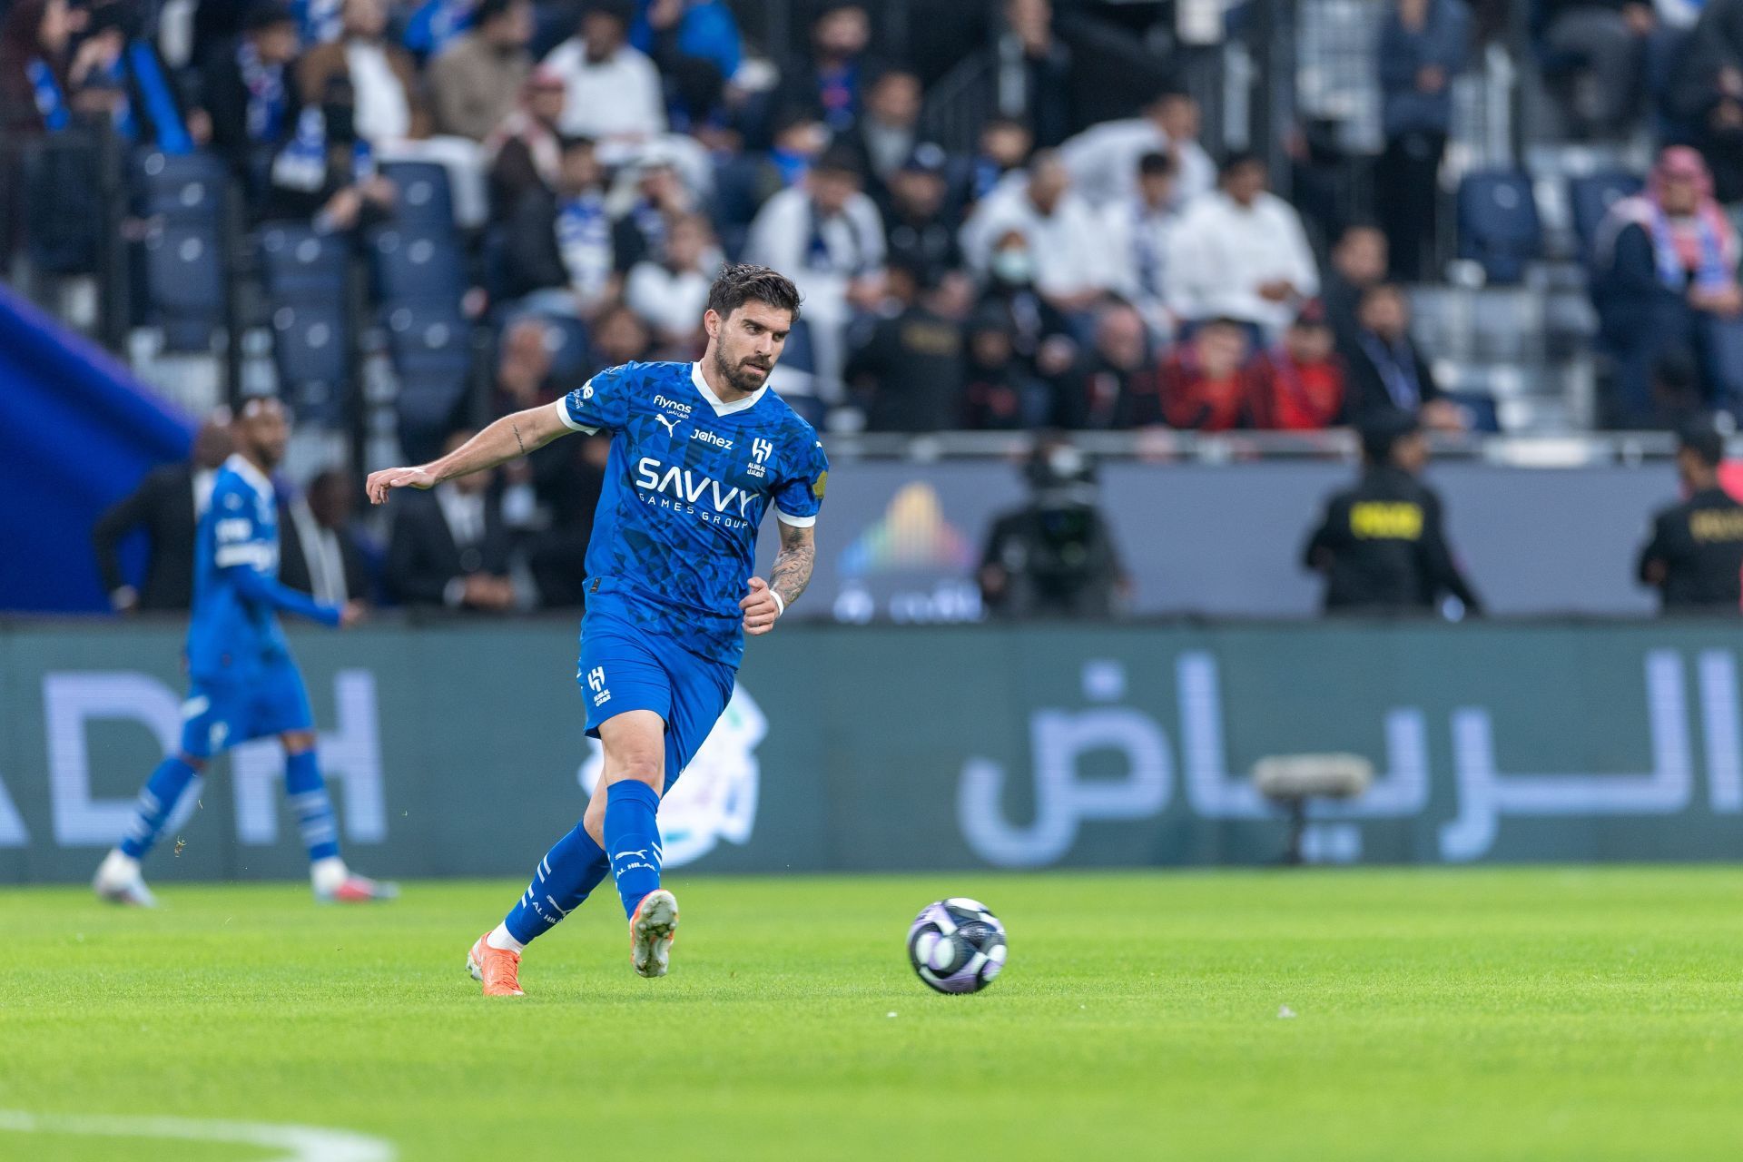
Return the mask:
[[666,791],[695,758],[732,700],[736,667],[690,653],[671,638],[605,611],[580,622],[575,679],[587,702],[587,733],[624,711],[654,711],[666,721]]

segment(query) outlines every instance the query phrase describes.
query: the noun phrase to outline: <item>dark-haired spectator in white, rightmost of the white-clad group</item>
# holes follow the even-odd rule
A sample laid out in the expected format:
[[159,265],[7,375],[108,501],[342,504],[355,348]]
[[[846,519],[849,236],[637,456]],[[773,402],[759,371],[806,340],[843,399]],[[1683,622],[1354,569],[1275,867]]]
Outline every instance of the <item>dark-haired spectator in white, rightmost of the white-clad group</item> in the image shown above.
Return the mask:
[[1295,209],[1265,190],[1265,164],[1236,153],[1222,166],[1215,193],[1180,218],[1168,254],[1170,303],[1182,321],[1239,319],[1281,331],[1319,274]]

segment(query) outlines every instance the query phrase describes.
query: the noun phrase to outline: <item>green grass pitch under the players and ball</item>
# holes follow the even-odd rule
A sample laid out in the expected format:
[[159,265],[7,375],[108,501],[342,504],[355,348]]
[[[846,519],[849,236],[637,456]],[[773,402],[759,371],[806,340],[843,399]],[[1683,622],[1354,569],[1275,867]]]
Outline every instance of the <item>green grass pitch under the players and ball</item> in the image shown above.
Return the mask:
[[[518,1002],[462,962],[521,883],[3,890],[0,1111],[404,1162],[1743,1157],[1743,869],[668,880],[669,977],[631,974],[607,887]],[[1011,934],[978,996],[903,953],[957,894]],[[281,1155],[0,1129],[0,1157]]]

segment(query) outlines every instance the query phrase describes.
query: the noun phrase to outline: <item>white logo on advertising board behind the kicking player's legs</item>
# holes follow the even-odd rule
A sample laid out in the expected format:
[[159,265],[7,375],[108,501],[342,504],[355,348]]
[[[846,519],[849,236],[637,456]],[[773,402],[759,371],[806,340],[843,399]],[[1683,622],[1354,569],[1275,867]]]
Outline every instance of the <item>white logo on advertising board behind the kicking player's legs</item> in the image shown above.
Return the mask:
[[[732,688],[732,700],[695,758],[683,768],[683,779],[659,805],[659,831],[666,868],[688,864],[727,843],[749,843],[756,822],[756,744],[769,733],[769,721],[744,690]],[[593,754],[582,765],[579,780],[587,794],[605,772],[605,751],[593,742]],[[619,852],[621,855],[624,852]]]

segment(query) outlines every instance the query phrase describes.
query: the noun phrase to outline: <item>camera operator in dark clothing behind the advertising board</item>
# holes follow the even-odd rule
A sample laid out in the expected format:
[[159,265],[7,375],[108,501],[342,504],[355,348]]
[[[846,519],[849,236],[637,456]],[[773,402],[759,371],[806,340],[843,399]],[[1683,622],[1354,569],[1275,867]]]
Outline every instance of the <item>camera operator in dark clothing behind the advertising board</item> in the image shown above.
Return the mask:
[[1112,617],[1129,582],[1096,505],[1096,472],[1065,441],[1042,441],[1025,467],[1028,503],[1000,514],[981,554],[981,599],[997,617]]

